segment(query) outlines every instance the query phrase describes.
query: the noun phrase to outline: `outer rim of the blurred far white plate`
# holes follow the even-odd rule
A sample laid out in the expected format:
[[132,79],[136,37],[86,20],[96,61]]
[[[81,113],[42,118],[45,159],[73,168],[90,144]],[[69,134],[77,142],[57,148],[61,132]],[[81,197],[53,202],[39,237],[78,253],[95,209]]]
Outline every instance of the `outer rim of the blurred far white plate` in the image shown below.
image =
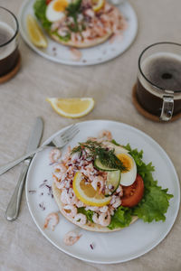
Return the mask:
[[[129,47],[131,46],[131,44],[133,42],[135,42],[136,38],[137,38],[137,35],[138,35],[138,16],[137,16],[137,13],[135,11],[135,9],[133,8],[133,6],[129,3],[129,1],[125,2],[127,5],[129,5],[129,7],[131,8],[133,14],[134,14],[134,20],[135,20],[135,32],[132,36],[132,39],[129,41],[128,45],[126,46],[126,48],[121,51],[121,52],[118,52],[116,53],[113,57],[110,57],[106,60],[101,60],[101,61],[90,61],[90,62],[76,62],[76,61],[63,61],[63,60],[60,60],[60,59],[56,59],[54,58],[53,56],[49,55],[49,54],[46,54],[45,52],[39,50],[38,48],[36,48],[32,42],[29,41],[29,39],[26,38],[26,34],[24,33],[24,27],[23,27],[23,13],[24,13],[24,8],[26,5],[29,4],[29,2],[33,2],[34,0],[24,0],[24,2],[22,3],[22,5],[20,5],[20,8],[19,8],[19,13],[18,13],[18,21],[19,21],[19,30],[20,30],[20,33],[21,33],[21,36],[24,40],[24,42],[34,51],[36,52],[37,54],[39,54],[40,56],[42,56],[44,59],[48,60],[48,61],[53,61],[53,62],[56,62],[56,63],[60,63],[60,64],[64,64],[64,65],[68,65],[68,66],[79,66],[79,67],[84,67],[84,66],[92,66],[92,65],[98,65],[98,64],[101,64],[101,63],[105,63],[105,62],[108,62],[108,61],[112,61],[116,58],[119,57],[119,55],[121,55],[122,53],[124,53],[125,51],[129,50]],[[59,45],[62,45],[62,44],[59,44]],[[101,44],[100,44],[101,45]],[[63,45],[62,45],[63,46]]]

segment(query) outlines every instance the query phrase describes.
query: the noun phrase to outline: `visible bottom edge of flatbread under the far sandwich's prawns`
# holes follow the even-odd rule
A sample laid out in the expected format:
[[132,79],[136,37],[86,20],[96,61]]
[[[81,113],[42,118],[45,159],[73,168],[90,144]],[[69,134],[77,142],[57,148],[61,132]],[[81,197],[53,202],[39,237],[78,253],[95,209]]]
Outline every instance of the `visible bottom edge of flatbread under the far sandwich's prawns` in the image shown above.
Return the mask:
[[72,41],[68,41],[68,42],[62,42],[59,37],[57,37],[56,35],[51,34],[51,37],[54,41],[61,43],[62,45],[66,45],[66,46],[71,46],[74,48],[89,48],[89,47],[93,47],[96,46],[100,43],[106,42],[110,36],[112,35],[112,32],[105,34],[102,37],[96,38],[94,40],[91,40],[89,42],[72,42]]

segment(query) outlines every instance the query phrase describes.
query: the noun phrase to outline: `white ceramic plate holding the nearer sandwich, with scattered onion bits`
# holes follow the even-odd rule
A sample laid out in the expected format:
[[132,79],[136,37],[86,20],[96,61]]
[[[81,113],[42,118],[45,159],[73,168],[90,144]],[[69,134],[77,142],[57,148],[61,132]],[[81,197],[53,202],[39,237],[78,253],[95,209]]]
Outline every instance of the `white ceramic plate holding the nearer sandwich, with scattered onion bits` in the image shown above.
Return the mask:
[[[65,246],[62,241],[63,236],[69,230],[75,229],[76,226],[65,220],[62,215],[60,215],[60,223],[54,231],[43,230],[47,214],[58,210],[56,203],[48,195],[48,188],[40,187],[43,180],[47,180],[45,183],[48,185],[52,184],[52,165],[49,162],[50,149],[34,156],[27,174],[26,199],[33,220],[45,238],[56,248],[72,257],[101,264],[120,263],[140,257],[155,248],[167,236],[176,220],[180,202],[180,187],[175,167],[156,141],[132,126],[106,120],[92,120],[77,125],[80,128],[80,133],[71,141],[71,147],[78,142],[84,142],[88,136],[98,135],[101,129],[109,129],[113,138],[120,144],[129,143],[133,148],[144,150],[145,163],[148,164],[152,161],[155,165],[154,178],[158,180],[158,184],[163,188],[168,188],[168,192],[174,194],[167,210],[167,220],[149,224],[137,220],[129,228],[110,233],[96,233],[80,229],[82,234],[80,240],[72,247]],[[66,148],[63,151],[66,151]],[[34,190],[36,192],[30,192]],[[43,203],[45,210],[40,208],[40,203]],[[92,243],[95,246],[93,250],[90,248]]]

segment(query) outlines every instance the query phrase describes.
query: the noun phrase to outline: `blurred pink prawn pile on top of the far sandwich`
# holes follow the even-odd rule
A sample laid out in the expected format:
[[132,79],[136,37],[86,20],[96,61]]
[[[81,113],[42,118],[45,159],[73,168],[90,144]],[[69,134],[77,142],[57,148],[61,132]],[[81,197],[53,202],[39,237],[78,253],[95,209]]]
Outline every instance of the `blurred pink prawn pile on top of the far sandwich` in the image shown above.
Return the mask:
[[[127,28],[127,22],[117,7],[105,3],[99,12],[94,12],[91,0],[82,0],[77,22],[80,32],[71,31],[71,42],[74,43],[89,43],[109,33],[118,35]],[[73,18],[66,16],[61,21],[52,23],[52,32],[57,31],[60,36],[65,37],[70,34],[70,25],[73,23]]]

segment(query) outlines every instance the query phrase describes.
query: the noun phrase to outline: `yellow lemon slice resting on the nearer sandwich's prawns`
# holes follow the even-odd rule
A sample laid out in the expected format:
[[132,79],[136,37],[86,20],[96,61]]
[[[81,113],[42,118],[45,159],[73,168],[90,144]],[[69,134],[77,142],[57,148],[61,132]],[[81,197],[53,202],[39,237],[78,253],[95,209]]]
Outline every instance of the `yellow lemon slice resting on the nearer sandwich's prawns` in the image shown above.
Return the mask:
[[91,184],[85,183],[81,173],[76,173],[74,176],[73,191],[80,201],[90,206],[104,206],[110,203],[111,197],[105,197],[95,191]]

